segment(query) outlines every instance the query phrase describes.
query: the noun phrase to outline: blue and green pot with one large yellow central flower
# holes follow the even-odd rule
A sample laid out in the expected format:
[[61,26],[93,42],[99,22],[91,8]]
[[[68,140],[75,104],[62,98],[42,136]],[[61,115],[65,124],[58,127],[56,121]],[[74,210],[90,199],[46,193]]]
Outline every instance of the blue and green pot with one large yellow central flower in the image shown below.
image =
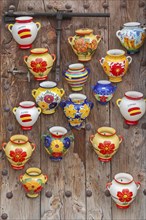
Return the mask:
[[64,127],[54,126],[49,129],[49,134],[43,135],[43,139],[50,159],[60,161],[71,146],[74,136],[68,135]]

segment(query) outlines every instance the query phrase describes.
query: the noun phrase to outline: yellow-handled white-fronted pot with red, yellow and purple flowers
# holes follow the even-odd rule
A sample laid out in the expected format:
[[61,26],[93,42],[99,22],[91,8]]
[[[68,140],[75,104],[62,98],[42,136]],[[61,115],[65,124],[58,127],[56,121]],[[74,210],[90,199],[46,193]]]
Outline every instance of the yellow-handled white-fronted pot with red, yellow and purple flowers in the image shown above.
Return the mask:
[[57,88],[56,82],[44,81],[38,89],[32,90],[36,103],[44,114],[53,114],[64,95],[64,90]]

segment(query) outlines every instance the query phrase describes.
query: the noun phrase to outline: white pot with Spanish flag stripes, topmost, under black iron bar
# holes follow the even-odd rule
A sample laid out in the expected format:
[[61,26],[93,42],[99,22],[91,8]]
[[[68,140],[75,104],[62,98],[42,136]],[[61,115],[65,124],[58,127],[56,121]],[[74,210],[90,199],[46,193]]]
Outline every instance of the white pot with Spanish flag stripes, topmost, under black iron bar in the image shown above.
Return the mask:
[[33,18],[28,16],[17,17],[15,24],[8,25],[8,30],[21,49],[32,47],[40,28],[41,24],[39,22],[34,23]]

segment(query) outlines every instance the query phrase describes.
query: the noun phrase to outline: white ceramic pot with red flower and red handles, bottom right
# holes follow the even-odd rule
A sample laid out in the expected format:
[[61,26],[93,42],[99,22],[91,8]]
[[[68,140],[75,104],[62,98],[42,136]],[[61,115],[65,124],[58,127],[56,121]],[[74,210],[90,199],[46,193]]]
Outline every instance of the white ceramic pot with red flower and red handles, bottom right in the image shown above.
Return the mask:
[[135,182],[128,173],[118,173],[111,183],[107,183],[106,187],[117,207],[127,209],[135,199],[140,183]]

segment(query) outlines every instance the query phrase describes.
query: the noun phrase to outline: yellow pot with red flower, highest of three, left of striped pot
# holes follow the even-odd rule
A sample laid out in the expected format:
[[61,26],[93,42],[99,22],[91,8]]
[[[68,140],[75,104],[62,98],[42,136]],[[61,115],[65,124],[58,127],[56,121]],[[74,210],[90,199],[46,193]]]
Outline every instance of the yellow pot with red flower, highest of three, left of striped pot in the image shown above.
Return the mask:
[[49,54],[46,48],[35,48],[30,53],[29,56],[24,57],[29,71],[34,75],[35,80],[46,80],[56,60],[56,55]]

